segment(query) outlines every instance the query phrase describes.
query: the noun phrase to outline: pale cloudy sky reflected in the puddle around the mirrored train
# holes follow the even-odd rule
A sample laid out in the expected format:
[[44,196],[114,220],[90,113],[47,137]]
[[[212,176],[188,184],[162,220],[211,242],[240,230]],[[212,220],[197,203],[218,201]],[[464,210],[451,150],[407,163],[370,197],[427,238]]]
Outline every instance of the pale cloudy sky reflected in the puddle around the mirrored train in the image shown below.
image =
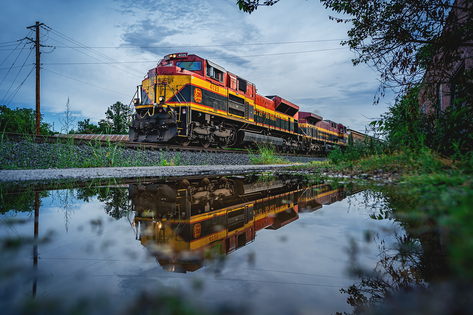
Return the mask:
[[[324,205],[315,212],[299,213],[298,220],[278,230],[257,231],[254,242],[228,254],[224,261],[179,274],[164,271],[154,257],[148,257],[128,219],[107,216],[96,197],[90,202],[74,201],[67,233],[63,207],[48,197],[40,209],[39,237],[47,230],[55,234],[51,243],[38,248],[42,277],[37,295],[76,297],[98,291],[120,300],[142,289],[154,291],[164,286],[168,292],[179,291],[198,304],[246,308],[257,314],[295,309],[321,314],[348,312],[347,296],[339,292],[355,282],[340,279],[354,279],[347,273],[348,237],[353,236],[361,244],[360,263],[372,268],[378,252],[374,243],[363,241],[364,231],[375,228],[375,224],[386,227],[387,223],[369,219],[368,210],[357,206],[348,210],[349,198],[353,201],[356,196]],[[101,226],[90,224],[98,219]],[[32,236],[33,222],[16,229],[20,235]],[[7,231],[5,228],[0,233],[5,235]],[[386,233],[380,232],[380,236]],[[252,256],[254,263],[249,262]],[[25,255],[22,260],[25,266],[32,265],[31,257]],[[28,294],[28,289],[25,292]]]

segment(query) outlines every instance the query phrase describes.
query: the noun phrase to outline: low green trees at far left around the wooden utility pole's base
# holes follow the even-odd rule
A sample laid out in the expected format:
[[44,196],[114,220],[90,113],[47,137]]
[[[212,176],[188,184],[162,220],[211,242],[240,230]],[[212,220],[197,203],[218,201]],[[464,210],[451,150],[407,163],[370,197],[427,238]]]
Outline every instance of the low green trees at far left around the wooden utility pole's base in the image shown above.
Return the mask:
[[[51,124],[44,122],[44,114],[40,114],[40,134],[51,135]],[[36,111],[32,108],[11,109],[0,105],[0,131],[35,134]]]

